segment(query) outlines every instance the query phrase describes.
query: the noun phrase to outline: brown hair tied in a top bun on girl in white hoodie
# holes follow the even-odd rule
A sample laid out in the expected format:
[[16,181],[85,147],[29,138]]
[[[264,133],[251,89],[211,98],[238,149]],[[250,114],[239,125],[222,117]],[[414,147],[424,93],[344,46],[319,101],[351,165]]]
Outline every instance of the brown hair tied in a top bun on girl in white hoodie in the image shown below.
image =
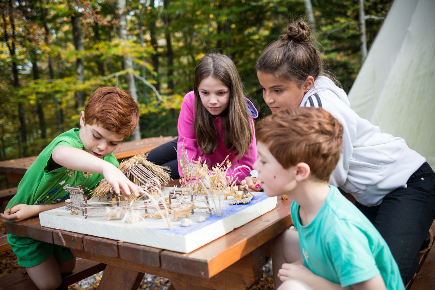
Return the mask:
[[289,24],[285,34],[271,42],[258,57],[255,69],[275,77],[291,80],[298,87],[305,84],[308,76],[315,80],[323,73],[323,63],[315,47],[310,27],[299,20]]

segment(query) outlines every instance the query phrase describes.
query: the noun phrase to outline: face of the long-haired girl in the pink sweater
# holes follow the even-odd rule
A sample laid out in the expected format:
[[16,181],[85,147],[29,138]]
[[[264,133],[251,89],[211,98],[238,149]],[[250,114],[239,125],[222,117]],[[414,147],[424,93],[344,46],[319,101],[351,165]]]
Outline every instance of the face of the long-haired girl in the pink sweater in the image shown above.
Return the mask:
[[198,86],[202,105],[214,116],[220,115],[230,103],[230,88],[214,77],[207,77]]

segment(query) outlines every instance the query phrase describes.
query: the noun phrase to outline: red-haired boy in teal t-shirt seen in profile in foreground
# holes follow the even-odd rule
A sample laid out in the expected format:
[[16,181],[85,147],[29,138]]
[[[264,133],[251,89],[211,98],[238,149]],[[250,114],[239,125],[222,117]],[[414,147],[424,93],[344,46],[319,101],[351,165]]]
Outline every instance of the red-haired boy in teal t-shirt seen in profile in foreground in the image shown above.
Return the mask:
[[293,199],[298,230],[273,242],[275,289],[404,290],[385,240],[328,184],[340,159],[341,123],[321,108],[294,107],[261,120],[255,135],[261,186],[268,196]]

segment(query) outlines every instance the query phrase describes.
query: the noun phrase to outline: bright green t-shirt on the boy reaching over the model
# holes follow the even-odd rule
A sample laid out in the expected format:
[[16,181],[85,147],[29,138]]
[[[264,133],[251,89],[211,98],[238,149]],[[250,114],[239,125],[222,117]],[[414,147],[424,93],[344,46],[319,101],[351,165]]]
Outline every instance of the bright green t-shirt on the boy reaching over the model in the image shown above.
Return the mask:
[[[90,190],[94,190],[97,183],[104,178],[102,174],[85,173],[60,167],[51,157],[51,153],[57,146],[69,146],[83,149],[78,135],[80,129],[73,128],[60,134],[45,147],[39,154],[35,162],[24,174],[23,179],[18,184],[18,192],[9,201],[7,208],[15,203],[20,204],[50,204],[68,199],[69,193],[65,190],[67,186],[84,188],[84,193],[91,195]],[[103,157],[116,167],[119,163],[113,153]]]

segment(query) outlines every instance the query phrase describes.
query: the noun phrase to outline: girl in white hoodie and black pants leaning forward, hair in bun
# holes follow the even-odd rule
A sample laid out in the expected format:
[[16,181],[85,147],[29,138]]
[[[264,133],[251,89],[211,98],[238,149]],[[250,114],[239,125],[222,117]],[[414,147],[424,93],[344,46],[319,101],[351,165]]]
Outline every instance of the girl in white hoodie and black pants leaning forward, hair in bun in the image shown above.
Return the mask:
[[[382,133],[349,107],[346,93],[323,73],[311,42],[308,25],[299,21],[261,53],[256,70],[264,101],[272,113],[322,107],[340,121],[343,151],[329,183],[355,197],[356,207],[388,243],[406,285],[434,220],[435,173],[405,140]],[[247,182],[259,190],[259,180],[247,177]]]

